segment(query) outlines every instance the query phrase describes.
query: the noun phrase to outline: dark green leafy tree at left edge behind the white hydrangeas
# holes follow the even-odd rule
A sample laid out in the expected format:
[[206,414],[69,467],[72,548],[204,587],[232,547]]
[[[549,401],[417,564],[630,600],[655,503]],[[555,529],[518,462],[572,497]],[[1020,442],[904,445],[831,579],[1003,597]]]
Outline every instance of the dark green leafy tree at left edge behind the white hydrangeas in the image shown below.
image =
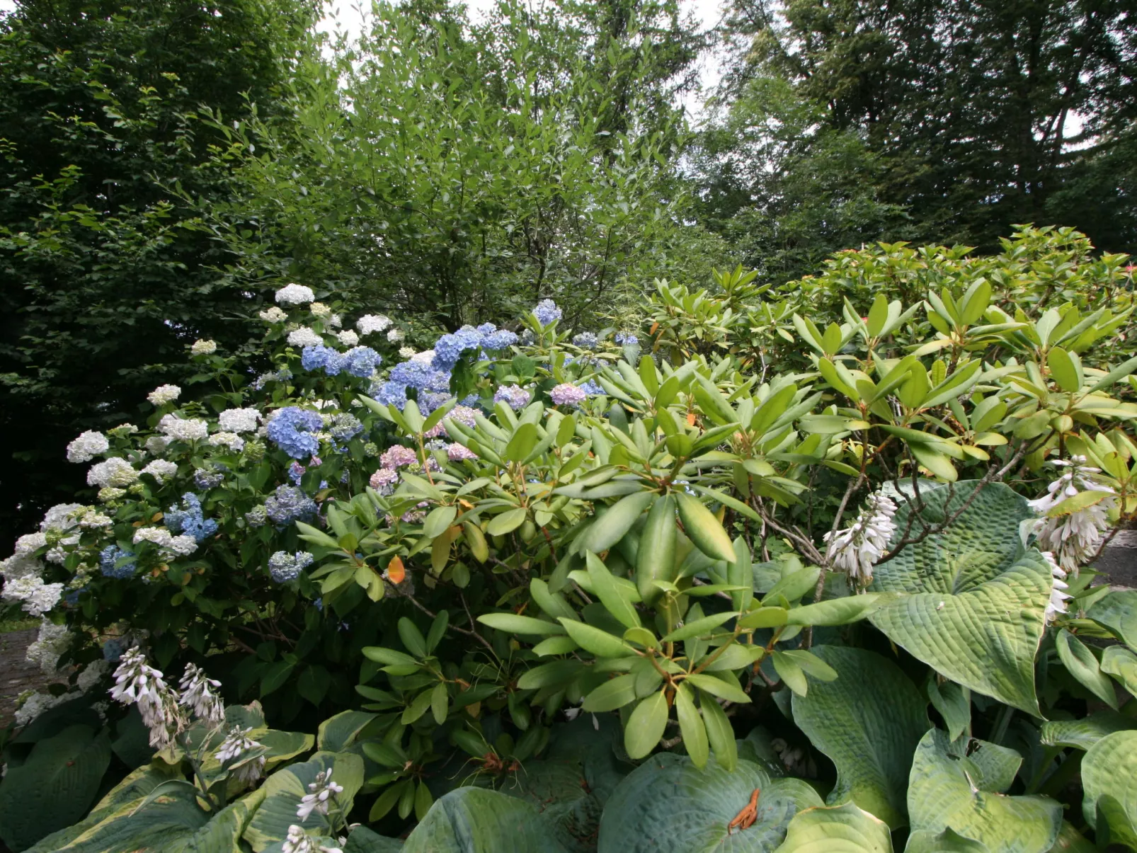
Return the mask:
[[[26,0],[0,19],[0,519],[74,491],[82,429],[139,416],[185,343],[247,337],[223,246],[168,189],[232,191],[202,121],[271,121],[312,3]],[[14,488],[18,485],[18,489]]]

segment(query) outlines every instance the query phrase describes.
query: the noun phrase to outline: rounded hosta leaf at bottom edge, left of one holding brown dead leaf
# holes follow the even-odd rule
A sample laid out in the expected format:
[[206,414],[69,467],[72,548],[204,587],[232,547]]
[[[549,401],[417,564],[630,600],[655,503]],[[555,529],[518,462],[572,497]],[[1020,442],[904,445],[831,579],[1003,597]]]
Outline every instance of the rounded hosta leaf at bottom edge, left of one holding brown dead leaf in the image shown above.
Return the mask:
[[529,803],[484,788],[437,800],[402,853],[567,853]]

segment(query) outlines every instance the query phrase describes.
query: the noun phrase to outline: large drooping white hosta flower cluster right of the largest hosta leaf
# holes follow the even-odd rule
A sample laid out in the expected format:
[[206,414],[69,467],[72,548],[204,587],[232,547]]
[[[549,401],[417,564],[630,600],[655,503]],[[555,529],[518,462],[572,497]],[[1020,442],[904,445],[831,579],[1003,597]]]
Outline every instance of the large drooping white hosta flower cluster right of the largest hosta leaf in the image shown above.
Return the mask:
[[1078,570],[1097,555],[1102,537],[1110,529],[1109,512],[1117,496],[1113,489],[1094,479],[1101,469],[1086,465],[1085,456],[1071,456],[1069,461],[1059,459],[1054,464],[1065,467],[1065,473],[1047,487],[1045,495],[1027,502],[1039,515],[1045,516],[1053,507],[1082,491],[1106,495],[1092,506],[1041,517],[1035,525],[1039,550],[1052,552],[1059,565],[1077,578]]

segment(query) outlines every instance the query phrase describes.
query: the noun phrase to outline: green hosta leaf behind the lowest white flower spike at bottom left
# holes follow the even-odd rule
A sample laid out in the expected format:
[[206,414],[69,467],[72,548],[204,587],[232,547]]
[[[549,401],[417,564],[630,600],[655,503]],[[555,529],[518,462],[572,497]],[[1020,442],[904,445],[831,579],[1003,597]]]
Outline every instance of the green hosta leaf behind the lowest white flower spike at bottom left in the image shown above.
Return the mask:
[[262,786],[265,798],[244,830],[244,840],[256,853],[262,853],[281,844],[293,823],[316,833],[329,831],[327,818],[313,812],[304,820],[297,817],[300,800],[308,793],[308,786],[321,771],[331,771],[337,785],[343,790],[337,801],[345,813],[351,810],[356,792],[363,785],[363,759],[352,753],[317,752],[308,761],[290,764],[268,777]]

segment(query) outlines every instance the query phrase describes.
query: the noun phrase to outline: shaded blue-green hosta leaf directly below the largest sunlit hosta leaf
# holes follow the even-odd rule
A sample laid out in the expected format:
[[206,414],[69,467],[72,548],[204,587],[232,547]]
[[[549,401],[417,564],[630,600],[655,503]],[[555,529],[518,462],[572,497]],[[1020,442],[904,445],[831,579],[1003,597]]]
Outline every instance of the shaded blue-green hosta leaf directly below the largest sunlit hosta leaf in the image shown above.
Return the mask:
[[894,829],[904,826],[912,754],[931,726],[927,701],[887,657],[843,646],[813,653],[837,678],[794,696],[794,722],[837,765],[829,802],[852,800]]

